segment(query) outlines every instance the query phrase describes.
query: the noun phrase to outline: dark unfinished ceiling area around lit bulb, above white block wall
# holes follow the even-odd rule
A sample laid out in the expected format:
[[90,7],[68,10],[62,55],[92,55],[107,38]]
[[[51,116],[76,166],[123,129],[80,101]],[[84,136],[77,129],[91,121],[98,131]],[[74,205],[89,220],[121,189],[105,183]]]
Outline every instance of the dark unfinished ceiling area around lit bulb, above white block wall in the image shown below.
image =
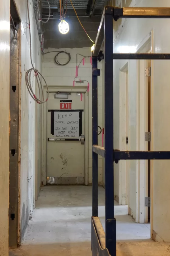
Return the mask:
[[[72,0],[77,15],[86,32],[94,41],[97,36],[101,15],[106,0]],[[49,0],[51,15],[47,23],[42,24],[44,30],[44,48],[83,48],[91,47],[92,41],[88,38],[80,25],[70,0],[61,0],[64,8],[67,4],[65,20],[69,23],[69,32],[61,34],[58,29],[60,22],[59,0]],[[49,7],[46,0],[42,0],[42,18],[45,21],[49,15]]]

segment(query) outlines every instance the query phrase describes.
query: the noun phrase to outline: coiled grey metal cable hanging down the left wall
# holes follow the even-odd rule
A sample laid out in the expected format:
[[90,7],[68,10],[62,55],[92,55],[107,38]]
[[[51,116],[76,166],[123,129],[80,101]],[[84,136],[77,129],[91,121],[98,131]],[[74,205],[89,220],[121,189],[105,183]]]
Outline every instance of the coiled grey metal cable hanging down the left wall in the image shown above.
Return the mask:
[[[38,104],[42,104],[42,103],[45,103],[48,100],[49,91],[48,91],[48,85],[46,83],[46,80],[44,79],[43,75],[37,69],[35,69],[35,67],[33,65],[33,62],[32,62],[31,28],[30,28],[30,16],[29,16],[28,1],[29,0],[27,0],[27,11],[28,11],[28,23],[29,23],[30,60],[31,60],[32,68],[28,69],[26,71],[25,80],[26,80],[26,86],[27,86],[28,92],[31,95],[31,97],[33,98],[33,100],[35,102],[37,102]],[[38,85],[38,89],[39,89],[39,97],[35,96],[35,93],[33,92],[33,89],[32,89],[32,85],[31,85],[31,74],[32,74],[32,72],[34,73],[34,75],[37,79],[37,85]],[[42,87],[42,83],[41,83],[41,77],[44,80],[46,88],[47,88],[47,98],[46,98],[45,101],[44,101],[44,92],[43,92],[43,87]],[[41,97],[41,94],[42,94],[42,97]],[[41,99],[40,99],[40,97],[41,97]]]

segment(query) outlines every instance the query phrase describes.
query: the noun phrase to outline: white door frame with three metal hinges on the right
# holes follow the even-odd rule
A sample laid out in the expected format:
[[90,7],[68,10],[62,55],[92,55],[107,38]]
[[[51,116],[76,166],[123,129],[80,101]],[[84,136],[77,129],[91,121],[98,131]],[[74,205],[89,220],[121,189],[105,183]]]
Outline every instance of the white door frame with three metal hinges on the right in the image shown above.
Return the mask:
[[[153,30],[145,37],[145,39],[139,44],[137,47],[137,53],[145,53],[151,52],[154,53],[154,44],[153,44]],[[137,61],[137,150],[146,150],[146,142],[145,142],[145,132],[147,128],[145,127],[145,123],[148,122],[148,110],[145,109],[146,106],[146,97],[145,95],[145,87],[146,87],[146,77],[145,77],[145,60]],[[151,61],[151,70],[153,67],[153,62]],[[141,77],[141,72],[143,73]],[[151,87],[153,85],[152,75],[151,75]],[[145,88],[145,89],[144,89]],[[152,94],[151,94],[152,98]],[[151,100],[152,102],[152,100]],[[143,120],[142,120],[143,118]],[[147,120],[146,120],[147,118]],[[152,119],[152,106],[151,106],[151,119]],[[153,131],[153,126],[151,125],[151,134]],[[143,138],[141,138],[141,135]],[[151,139],[152,140],[152,139]],[[152,146],[151,146],[152,150]],[[136,163],[136,222],[137,223],[145,223],[148,220],[148,208],[145,207],[145,197],[148,196],[148,167],[146,160],[137,160]],[[150,161],[150,175],[152,172],[152,161]],[[145,168],[145,172],[140,172],[140,168]],[[147,173],[146,173],[147,171]],[[147,176],[147,177],[146,177]],[[152,180],[152,179],[151,179]],[[153,183],[150,183],[150,193],[153,189]],[[151,193],[152,194],[152,193]],[[151,197],[152,200],[152,197]],[[152,212],[152,203],[150,207],[150,212]],[[152,218],[150,218],[151,229],[152,229]]]

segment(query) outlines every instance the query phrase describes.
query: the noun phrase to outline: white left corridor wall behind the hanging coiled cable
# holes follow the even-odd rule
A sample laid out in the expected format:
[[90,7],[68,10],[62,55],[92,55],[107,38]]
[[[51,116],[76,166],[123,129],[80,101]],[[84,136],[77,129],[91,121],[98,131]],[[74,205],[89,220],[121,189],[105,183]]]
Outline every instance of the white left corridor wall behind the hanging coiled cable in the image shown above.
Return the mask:
[[[27,1],[15,0],[21,19],[21,169],[20,169],[20,239],[23,238],[28,219],[33,210],[34,197],[37,198],[41,185],[41,123],[42,106],[35,104],[27,91],[25,72],[31,68],[29,28],[27,28]],[[41,72],[41,49],[32,1],[29,1],[31,22],[32,59]],[[35,90],[35,77],[32,80]],[[31,177],[33,176],[33,177]],[[30,179],[27,182],[27,178]],[[36,188],[34,191],[34,183]],[[35,193],[35,195],[34,195]]]

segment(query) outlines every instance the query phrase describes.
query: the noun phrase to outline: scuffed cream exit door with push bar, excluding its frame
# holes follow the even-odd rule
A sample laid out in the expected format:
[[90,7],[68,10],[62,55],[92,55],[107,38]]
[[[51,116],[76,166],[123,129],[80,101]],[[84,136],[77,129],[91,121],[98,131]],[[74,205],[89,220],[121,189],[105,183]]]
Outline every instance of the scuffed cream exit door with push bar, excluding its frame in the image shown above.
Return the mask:
[[49,93],[47,102],[47,184],[84,184],[85,94],[68,99]]

